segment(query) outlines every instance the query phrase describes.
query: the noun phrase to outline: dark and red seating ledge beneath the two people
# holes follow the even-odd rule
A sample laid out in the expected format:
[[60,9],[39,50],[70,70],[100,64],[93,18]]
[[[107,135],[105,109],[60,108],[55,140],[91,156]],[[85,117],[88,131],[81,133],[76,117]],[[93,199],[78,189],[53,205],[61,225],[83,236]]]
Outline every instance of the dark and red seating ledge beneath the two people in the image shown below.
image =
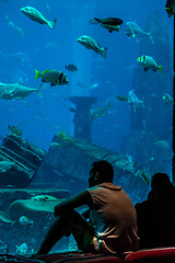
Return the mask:
[[63,262],[85,262],[85,263],[175,263],[175,248],[162,248],[153,250],[140,250],[130,253],[125,259],[116,255],[103,255],[81,252],[65,252],[40,255],[38,260],[28,258],[0,254],[0,262],[12,263],[63,263]]

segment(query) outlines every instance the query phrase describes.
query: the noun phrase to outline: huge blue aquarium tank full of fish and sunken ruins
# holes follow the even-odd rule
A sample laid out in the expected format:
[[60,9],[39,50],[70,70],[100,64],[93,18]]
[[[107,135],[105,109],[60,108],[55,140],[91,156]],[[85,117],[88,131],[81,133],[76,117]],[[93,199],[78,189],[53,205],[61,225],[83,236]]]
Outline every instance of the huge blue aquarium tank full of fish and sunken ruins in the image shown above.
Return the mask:
[[[107,160],[133,204],[173,158],[173,18],[160,0],[0,1],[0,253],[33,253],[54,206]],[[52,251],[75,249],[65,237]]]

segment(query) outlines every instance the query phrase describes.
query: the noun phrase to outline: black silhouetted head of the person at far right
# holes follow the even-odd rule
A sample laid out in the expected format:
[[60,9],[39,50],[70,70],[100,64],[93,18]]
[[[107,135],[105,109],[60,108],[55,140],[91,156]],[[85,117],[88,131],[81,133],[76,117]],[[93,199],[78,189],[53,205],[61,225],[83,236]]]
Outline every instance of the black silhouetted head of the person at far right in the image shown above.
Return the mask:
[[166,173],[154,173],[151,180],[152,190],[164,190],[173,186],[168,175]]

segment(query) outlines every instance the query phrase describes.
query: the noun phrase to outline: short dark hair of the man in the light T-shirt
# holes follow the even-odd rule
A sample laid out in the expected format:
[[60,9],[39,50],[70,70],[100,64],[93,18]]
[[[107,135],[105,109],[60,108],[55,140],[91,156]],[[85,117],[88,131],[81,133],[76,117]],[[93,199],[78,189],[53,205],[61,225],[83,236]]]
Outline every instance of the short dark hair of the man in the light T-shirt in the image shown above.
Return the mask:
[[92,163],[91,169],[93,173],[98,172],[100,178],[104,182],[113,182],[114,169],[106,160],[95,161]]

